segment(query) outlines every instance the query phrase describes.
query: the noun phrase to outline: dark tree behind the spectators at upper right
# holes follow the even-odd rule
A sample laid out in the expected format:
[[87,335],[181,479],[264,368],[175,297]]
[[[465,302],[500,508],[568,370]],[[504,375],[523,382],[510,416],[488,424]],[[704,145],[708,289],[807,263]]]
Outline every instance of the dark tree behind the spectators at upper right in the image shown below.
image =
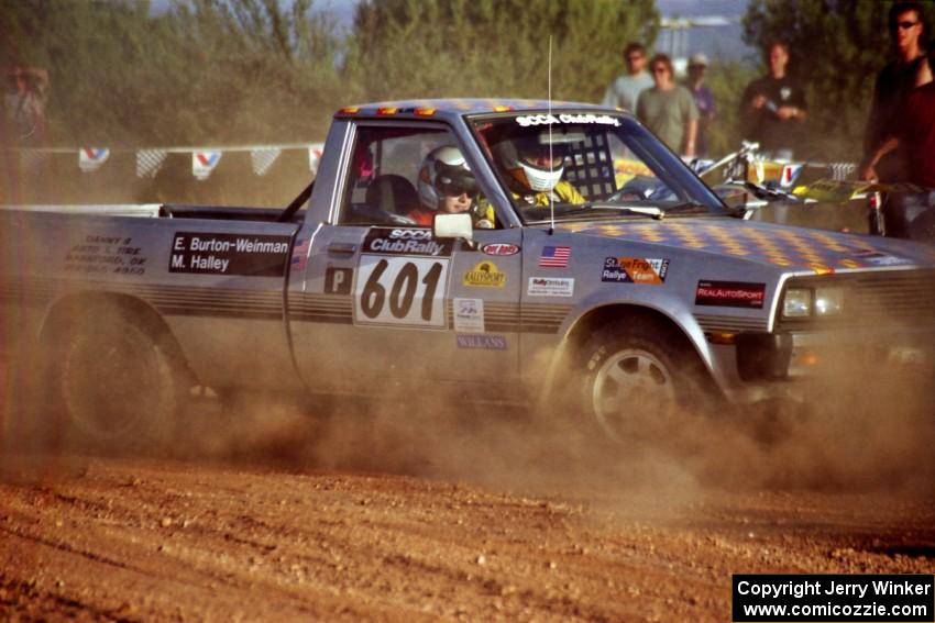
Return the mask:
[[[744,18],[744,40],[760,49],[776,40],[787,42],[790,70],[805,85],[813,136],[806,155],[854,160],[860,154],[873,80],[889,60],[887,14],[892,3],[750,3]],[[935,7],[928,5],[926,11],[931,24]]]

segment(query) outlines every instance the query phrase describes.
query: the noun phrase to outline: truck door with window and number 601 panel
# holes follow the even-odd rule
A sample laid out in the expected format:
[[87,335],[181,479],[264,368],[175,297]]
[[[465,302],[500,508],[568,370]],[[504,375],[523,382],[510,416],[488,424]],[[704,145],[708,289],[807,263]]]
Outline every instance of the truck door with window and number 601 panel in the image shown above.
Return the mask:
[[305,279],[289,292],[296,364],[312,389],[517,378],[520,232],[476,230],[469,248],[413,220],[426,208],[422,162],[444,145],[457,141],[443,124],[356,126],[334,222],[299,241]]

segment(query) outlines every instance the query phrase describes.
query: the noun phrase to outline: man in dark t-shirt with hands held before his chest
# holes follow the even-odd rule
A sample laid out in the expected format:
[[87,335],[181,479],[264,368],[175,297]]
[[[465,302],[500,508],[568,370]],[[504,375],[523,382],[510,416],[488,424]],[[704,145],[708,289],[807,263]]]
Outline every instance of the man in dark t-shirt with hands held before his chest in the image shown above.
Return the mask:
[[751,81],[740,100],[745,135],[777,159],[792,159],[799,130],[807,119],[805,92],[788,73],[789,45],[767,47],[769,74]]

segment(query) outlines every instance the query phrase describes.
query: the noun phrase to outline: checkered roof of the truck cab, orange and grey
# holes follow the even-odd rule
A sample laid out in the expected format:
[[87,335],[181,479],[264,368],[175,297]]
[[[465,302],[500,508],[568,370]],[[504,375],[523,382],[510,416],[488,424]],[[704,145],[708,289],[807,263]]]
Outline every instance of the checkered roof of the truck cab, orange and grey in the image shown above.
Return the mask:
[[[465,114],[484,114],[508,111],[544,111],[550,108],[548,100],[521,100],[512,98],[490,99],[426,99],[375,102],[344,107],[334,116],[406,116],[406,118],[452,118]],[[587,110],[595,112],[622,112],[606,107],[582,102],[551,102],[552,110]]]

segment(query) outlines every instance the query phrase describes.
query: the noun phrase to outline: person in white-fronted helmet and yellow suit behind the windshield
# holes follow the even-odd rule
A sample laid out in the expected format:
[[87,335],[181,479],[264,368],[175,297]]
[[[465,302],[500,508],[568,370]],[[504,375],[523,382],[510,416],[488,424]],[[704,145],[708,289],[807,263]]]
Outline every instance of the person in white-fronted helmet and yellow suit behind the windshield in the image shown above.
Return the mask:
[[552,144],[547,135],[525,134],[501,147],[501,163],[506,169],[513,197],[528,205],[584,203],[585,199],[562,179],[565,146]]

